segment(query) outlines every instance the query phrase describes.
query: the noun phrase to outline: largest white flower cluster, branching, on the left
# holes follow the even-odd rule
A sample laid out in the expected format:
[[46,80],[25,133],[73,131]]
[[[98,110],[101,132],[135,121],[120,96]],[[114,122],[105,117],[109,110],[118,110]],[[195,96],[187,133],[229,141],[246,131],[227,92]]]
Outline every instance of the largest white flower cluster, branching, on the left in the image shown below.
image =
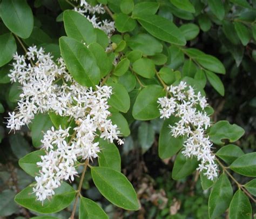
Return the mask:
[[[33,191],[37,200],[43,201],[54,194],[62,180],[73,180],[77,174],[77,158],[92,159],[99,152],[97,136],[110,142],[117,140],[120,131],[113,125],[107,99],[112,94],[109,86],[96,86],[96,90],[79,85],[72,79],[63,59],[56,64],[49,53],[42,48],[29,47],[25,56],[14,56],[14,69],[9,76],[11,81],[22,85],[21,99],[17,112],[9,113],[7,127],[18,130],[28,125],[37,113],[55,112],[75,120],[76,127],[70,136],[71,127],[51,130],[42,140],[46,155],[37,165],[41,167],[36,176]],[[35,64],[28,64],[32,60]]]

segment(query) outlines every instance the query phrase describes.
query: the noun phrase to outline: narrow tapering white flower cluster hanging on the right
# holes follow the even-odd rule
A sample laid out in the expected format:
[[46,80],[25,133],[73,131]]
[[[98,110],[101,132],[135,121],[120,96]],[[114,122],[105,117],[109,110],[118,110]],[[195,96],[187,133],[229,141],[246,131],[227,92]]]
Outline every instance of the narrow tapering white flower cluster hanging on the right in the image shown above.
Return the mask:
[[[213,180],[218,176],[218,166],[211,152],[212,142],[205,134],[211,125],[210,117],[204,111],[208,105],[205,97],[200,92],[196,94],[193,87],[187,86],[183,81],[178,86],[167,87],[167,91],[171,97],[159,98],[157,101],[160,104],[160,118],[170,118],[173,115],[180,119],[169,127],[174,138],[186,136],[181,153],[188,158],[196,156],[201,161],[199,172],[204,170],[204,175]],[[199,107],[200,110],[197,110]]]

